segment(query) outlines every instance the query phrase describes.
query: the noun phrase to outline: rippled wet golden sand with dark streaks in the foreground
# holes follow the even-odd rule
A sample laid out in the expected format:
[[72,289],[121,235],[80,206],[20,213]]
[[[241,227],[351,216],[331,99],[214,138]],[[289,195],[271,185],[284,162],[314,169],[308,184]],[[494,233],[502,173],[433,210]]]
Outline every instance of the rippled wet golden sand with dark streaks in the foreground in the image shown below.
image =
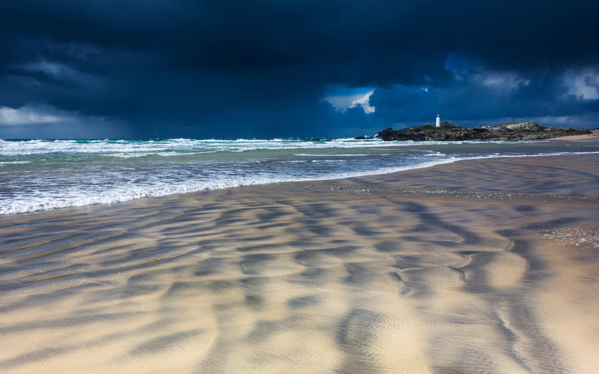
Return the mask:
[[2,373],[597,373],[599,156],[0,218]]

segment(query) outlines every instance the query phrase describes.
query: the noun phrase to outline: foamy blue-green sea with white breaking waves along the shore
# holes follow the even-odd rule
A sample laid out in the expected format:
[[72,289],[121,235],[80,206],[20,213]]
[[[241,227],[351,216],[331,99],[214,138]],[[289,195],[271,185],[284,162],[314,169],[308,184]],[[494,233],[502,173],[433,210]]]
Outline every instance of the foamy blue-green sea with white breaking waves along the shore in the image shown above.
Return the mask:
[[0,140],[0,214],[385,174],[465,159],[573,153],[599,153],[599,145],[352,138],[5,139]]

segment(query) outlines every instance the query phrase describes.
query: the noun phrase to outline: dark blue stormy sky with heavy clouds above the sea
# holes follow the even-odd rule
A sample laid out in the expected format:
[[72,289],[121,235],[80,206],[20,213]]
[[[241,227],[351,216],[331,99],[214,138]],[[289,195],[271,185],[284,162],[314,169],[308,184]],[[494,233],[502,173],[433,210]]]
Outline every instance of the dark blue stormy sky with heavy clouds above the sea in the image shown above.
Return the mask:
[[599,127],[597,1],[1,0],[0,138]]

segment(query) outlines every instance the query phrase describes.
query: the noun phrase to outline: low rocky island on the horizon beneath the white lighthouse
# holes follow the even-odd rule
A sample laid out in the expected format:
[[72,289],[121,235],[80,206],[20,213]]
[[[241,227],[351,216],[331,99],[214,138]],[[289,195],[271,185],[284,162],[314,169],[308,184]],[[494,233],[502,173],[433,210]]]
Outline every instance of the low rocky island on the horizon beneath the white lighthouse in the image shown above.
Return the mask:
[[412,126],[401,130],[387,127],[376,138],[383,141],[466,141],[466,140],[539,140],[558,136],[585,135],[591,130],[570,127],[541,126],[536,122],[512,122],[497,126],[462,128],[447,121],[426,126]]

